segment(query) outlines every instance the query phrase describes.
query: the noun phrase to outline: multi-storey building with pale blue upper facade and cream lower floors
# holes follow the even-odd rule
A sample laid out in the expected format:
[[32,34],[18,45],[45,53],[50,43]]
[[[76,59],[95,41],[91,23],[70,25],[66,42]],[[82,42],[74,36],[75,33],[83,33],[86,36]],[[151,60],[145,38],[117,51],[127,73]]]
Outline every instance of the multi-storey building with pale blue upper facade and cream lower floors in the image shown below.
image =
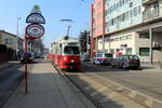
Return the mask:
[[162,0],[102,1],[105,35],[104,38],[93,35],[98,37],[96,51],[114,56],[118,52],[137,54],[141,62],[162,60]]

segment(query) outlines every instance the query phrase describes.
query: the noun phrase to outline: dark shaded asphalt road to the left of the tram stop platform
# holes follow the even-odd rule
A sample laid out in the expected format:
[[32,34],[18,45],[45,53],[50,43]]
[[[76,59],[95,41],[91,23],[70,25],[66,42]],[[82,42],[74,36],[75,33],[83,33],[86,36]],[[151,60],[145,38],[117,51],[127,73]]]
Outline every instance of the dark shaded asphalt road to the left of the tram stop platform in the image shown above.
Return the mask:
[[14,92],[22,81],[22,78],[23,72],[21,70],[21,64],[15,63],[10,67],[0,70],[0,107]]

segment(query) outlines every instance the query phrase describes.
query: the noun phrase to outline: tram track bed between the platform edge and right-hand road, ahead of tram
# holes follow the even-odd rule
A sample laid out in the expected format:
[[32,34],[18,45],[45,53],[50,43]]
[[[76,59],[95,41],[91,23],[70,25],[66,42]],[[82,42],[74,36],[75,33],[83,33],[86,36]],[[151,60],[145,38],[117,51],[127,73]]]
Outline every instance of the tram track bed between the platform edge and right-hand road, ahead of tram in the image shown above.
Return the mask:
[[69,79],[97,108],[146,108],[145,105],[113,91],[113,85],[100,84],[99,80],[85,71],[63,71],[55,65],[54,67],[58,73]]

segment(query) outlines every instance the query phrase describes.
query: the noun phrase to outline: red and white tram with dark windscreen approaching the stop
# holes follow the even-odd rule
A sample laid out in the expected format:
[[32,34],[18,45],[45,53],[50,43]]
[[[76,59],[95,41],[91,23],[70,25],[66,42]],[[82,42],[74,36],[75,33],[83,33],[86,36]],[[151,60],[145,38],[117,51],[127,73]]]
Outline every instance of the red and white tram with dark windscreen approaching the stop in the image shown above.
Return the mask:
[[66,37],[51,46],[51,60],[60,69],[80,69],[79,39]]

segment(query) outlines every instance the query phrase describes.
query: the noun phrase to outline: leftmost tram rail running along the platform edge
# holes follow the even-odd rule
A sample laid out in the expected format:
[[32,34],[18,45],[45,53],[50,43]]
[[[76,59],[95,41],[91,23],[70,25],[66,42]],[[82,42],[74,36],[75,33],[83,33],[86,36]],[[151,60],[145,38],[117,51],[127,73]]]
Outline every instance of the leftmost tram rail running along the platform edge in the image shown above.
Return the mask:
[[66,73],[66,71],[60,70],[55,64],[53,64],[53,66],[62,77],[68,79],[92,104],[94,104],[94,106],[96,106],[96,108],[103,108],[100,103],[98,103],[95,98],[93,98],[90,94],[87,94],[81,86],[79,86],[76,83],[76,81]]

